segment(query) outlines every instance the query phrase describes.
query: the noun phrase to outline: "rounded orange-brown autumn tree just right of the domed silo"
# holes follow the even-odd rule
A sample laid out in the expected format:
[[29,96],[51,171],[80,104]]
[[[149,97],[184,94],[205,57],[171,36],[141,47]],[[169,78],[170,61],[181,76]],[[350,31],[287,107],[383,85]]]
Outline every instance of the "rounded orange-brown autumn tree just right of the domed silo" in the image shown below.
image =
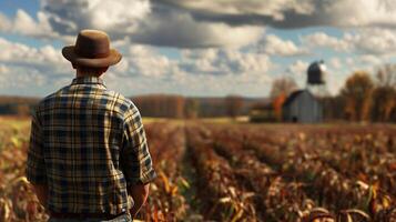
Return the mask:
[[356,71],[349,77],[341,95],[345,101],[345,113],[352,121],[368,120],[374,82],[365,71]]

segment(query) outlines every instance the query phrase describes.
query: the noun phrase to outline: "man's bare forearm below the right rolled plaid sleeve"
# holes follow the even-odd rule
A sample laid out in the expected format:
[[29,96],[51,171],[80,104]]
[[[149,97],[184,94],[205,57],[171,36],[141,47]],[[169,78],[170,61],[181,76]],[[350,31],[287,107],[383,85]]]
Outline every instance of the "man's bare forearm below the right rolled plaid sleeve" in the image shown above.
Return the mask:
[[149,188],[150,188],[150,183],[131,185],[128,189],[129,194],[133,199],[133,206],[130,210],[132,218],[136,216],[138,212],[140,211],[142,205],[145,203],[145,201],[148,200]]

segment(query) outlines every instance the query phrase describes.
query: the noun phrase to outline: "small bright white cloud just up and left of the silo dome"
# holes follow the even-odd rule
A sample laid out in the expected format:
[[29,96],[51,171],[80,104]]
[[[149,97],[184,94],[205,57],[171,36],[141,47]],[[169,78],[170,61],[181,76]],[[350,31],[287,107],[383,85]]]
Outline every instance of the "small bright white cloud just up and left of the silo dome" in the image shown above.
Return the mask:
[[308,51],[302,47],[297,47],[291,40],[283,40],[275,34],[268,34],[262,42],[263,51],[271,56],[291,57],[307,54]]

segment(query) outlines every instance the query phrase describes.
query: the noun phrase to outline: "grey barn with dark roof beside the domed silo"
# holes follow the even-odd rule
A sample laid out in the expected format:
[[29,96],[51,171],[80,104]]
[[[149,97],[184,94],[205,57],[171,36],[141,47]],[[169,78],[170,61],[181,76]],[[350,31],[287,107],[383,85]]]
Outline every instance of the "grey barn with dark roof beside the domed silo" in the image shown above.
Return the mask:
[[308,90],[293,92],[283,104],[285,122],[315,123],[323,120],[323,107]]

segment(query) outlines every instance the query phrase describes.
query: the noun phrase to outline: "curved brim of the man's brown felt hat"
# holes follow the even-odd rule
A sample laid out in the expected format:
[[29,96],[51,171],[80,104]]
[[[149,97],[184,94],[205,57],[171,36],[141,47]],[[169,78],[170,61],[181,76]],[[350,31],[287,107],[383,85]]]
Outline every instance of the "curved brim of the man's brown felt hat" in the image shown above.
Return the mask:
[[83,58],[75,53],[74,46],[64,47],[62,49],[63,57],[73,64],[92,67],[92,68],[102,68],[116,64],[121,61],[122,56],[114,49],[110,49],[110,53],[105,58],[90,59]]

